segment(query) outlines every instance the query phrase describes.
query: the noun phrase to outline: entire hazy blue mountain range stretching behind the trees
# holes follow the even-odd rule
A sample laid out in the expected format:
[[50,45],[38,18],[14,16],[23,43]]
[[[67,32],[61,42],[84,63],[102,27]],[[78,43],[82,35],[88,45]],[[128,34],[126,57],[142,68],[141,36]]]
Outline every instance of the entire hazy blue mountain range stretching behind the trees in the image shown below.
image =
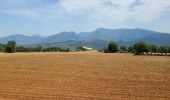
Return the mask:
[[170,34],[145,29],[105,29],[99,28],[92,32],[61,32],[50,36],[26,36],[15,34],[1,37],[0,43],[15,40],[20,45],[43,45],[75,48],[83,45],[92,48],[104,48],[110,41],[119,45],[133,45],[143,41],[156,45],[170,45]]

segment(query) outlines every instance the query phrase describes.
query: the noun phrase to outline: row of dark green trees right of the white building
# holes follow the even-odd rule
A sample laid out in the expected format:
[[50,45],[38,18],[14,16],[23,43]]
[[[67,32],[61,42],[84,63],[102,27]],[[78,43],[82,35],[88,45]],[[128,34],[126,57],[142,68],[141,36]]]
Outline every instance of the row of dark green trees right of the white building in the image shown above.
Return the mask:
[[145,42],[138,42],[133,46],[118,46],[115,42],[110,42],[108,47],[104,49],[106,53],[134,53],[135,55],[140,55],[143,53],[170,53],[170,46],[156,46],[153,44],[148,44]]

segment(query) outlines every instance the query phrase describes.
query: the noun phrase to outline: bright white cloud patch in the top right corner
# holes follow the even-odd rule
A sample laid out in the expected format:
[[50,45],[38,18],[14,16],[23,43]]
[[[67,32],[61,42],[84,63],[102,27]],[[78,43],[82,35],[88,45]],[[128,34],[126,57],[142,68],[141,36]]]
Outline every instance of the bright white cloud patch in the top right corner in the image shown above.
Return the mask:
[[170,12],[169,0],[141,0],[142,5],[136,6],[131,13],[138,21],[151,21]]

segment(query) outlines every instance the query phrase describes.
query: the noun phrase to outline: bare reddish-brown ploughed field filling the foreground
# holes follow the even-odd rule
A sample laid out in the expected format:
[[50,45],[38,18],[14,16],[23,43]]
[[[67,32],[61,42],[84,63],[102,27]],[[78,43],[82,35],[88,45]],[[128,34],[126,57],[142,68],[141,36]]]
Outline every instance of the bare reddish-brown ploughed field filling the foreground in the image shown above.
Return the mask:
[[0,100],[170,100],[170,57],[0,53]]

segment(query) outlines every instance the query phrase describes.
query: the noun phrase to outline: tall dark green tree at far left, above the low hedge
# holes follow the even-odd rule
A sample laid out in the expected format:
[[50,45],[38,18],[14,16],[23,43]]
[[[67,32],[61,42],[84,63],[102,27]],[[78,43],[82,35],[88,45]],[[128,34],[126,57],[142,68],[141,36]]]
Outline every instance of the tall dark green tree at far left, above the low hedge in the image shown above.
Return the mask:
[[5,47],[5,52],[7,53],[14,53],[15,52],[15,47],[16,47],[16,42],[15,41],[8,41]]

